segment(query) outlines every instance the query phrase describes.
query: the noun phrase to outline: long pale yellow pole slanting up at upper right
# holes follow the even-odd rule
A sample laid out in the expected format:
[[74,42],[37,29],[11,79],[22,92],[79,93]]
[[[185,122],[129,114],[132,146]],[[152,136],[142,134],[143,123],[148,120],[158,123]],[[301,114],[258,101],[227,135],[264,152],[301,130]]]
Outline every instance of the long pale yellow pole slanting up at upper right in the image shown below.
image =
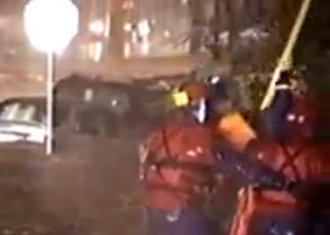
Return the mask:
[[301,4],[299,14],[297,16],[296,22],[292,28],[289,40],[287,42],[287,45],[283,51],[283,54],[281,56],[281,59],[273,73],[272,80],[269,84],[267,93],[264,97],[264,100],[261,104],[260,109],[264,110],[266,109],[272,102],[274,95],[275,95],[275,84],[278,81],[281,71],[285,68],[285,66],[290,63],[291,55],[292,55],[292,50],[297,42],[299,33],[301,31],[301,28],[305,22],[306,15],[308,13],[308,10],[310,8],[312,0],[304,0]]

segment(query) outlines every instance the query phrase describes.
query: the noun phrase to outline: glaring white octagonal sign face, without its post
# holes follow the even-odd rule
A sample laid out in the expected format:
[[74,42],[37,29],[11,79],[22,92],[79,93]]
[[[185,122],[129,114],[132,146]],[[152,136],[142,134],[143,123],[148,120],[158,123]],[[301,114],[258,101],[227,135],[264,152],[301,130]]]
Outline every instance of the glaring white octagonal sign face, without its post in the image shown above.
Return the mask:
[[33,0],[24,11],[24,28],[37,50],[61,54],[78,33],[79,12],[69,0]]

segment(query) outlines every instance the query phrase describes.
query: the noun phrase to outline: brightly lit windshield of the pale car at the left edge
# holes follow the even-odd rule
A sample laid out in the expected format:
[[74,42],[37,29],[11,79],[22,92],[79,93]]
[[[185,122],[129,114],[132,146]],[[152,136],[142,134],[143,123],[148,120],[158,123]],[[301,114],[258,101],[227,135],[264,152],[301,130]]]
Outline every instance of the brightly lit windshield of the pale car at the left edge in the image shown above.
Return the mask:
[[42,110],[32,103],[11,102],[0,108],[0,121],[44,123]]

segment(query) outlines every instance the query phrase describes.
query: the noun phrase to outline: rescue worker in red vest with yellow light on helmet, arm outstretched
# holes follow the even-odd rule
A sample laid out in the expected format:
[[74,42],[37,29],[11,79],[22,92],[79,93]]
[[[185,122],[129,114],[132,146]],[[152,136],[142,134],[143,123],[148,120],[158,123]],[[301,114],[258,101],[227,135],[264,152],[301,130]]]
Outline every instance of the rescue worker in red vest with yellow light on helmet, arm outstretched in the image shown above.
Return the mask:
[[[219,141],[214,136],[212,124],[217,114],[230,109],[226,95],[218,88],[200,82],[184,84],[174,95],[176,105],[181,107],[179,112],[152,134],[142,151],[141,178],[147,192],[150,234],[208,235],[217,232],[217,225],[208,220],[203,204],[214,186],[214,176],[219,171],[216,167],[219,166],[219,149],[222,148],[215,144]],[[216,115],[210,103],[215,99],[214,94],[223,101],[217,104]],[[239,167],[251,173],[248,179],[252,182],[261,180],[262,184],[271,183],[275,188],[290,185],[282,175],[258,162],[236,158],[234,152],[223,151],[220,155],[236,159],[228,166],[223,162],[223,171],[230,172]]]

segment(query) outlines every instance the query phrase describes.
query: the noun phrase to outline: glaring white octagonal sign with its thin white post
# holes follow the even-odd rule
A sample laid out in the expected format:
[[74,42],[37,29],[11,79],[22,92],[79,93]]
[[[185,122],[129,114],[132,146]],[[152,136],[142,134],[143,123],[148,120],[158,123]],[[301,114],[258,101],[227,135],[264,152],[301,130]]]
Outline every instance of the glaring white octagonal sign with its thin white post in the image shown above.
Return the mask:
[[26,34],[33,47],[47,54],[47,154],[53,152],[54,56],[66,49],[78,26],[79,11],[70,0],[31,0],[25,6]]

